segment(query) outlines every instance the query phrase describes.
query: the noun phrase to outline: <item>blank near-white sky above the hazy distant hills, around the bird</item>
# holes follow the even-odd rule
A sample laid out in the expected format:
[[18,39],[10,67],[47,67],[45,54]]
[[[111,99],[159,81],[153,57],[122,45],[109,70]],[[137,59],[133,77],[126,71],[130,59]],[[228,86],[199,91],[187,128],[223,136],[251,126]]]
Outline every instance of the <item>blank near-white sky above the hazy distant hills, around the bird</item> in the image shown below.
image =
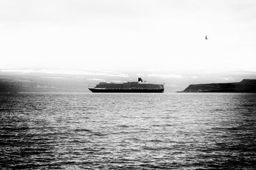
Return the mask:
[[0,69],[256,71],[255,47],[254,0],[0,1]]

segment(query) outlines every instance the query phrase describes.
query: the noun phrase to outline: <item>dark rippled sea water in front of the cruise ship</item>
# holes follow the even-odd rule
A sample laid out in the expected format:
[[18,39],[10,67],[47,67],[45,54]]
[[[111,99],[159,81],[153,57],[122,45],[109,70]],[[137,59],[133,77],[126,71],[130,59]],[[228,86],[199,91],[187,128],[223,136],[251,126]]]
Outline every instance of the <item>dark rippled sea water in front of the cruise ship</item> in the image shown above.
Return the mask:
[[256,94],[0,94],[0,168],[256,169]]

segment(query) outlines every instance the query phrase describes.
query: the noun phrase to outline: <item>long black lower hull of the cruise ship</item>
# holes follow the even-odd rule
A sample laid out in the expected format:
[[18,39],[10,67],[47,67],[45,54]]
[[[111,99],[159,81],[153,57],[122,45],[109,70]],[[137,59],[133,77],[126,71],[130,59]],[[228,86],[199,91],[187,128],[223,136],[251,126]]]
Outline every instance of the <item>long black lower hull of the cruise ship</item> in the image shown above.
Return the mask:
[[93,93],[163,93],[164,89],[93,89]]

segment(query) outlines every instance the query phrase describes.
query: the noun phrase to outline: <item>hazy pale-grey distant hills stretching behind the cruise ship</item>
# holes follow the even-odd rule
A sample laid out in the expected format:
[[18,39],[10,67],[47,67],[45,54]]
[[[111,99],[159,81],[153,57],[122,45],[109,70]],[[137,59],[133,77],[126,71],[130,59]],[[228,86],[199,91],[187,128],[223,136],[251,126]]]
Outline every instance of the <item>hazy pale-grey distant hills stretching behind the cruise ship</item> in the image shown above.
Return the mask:
[[256,72],[225,71],[214,72],[168,72],[168,71],[58,71],[58,70],[14,70],[0,69],[0,92],[89,92],[100,81],[121,83],[143,81],[163,84],[164,93],[186,89],[189,84],[228,83],[243,79],[255,79]]

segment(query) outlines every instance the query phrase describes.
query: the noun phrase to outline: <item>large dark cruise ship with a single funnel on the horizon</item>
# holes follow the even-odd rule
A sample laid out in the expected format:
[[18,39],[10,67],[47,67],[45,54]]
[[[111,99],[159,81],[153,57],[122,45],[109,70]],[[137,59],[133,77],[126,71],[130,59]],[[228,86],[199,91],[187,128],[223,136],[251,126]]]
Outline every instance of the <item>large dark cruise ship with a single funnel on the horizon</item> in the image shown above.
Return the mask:
[[94,88],[89,88],[93,93],[163,93],[163,84],[152,84],[138,81],[128,81],[124,83],[100,82]]

